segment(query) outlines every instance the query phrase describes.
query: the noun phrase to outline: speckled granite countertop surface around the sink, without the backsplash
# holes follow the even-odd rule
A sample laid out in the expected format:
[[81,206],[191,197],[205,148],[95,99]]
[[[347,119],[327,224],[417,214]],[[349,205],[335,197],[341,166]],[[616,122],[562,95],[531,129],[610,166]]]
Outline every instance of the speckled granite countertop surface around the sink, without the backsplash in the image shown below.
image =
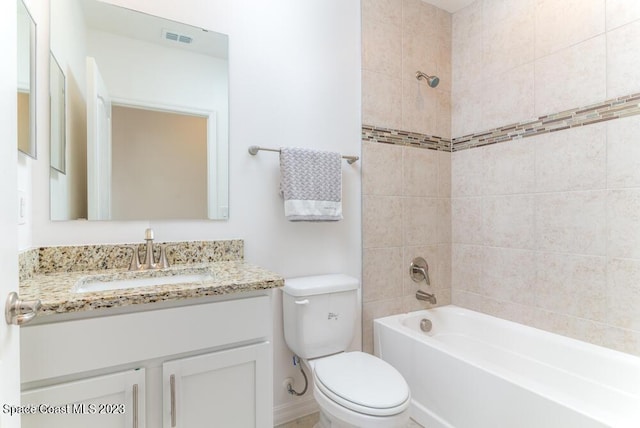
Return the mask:
[[[198,283],[153,285],[99,292],[74,292],[87,279],[116,280],[206,272],[212,279]],[[93,311],[128,305],[177,301],[205,296],[265,290],[284,285],[282,276],[241,260],[175,265],[161,270],[107,269],[36,274],[20,282],[20,298],[40,299],[38,317]]]

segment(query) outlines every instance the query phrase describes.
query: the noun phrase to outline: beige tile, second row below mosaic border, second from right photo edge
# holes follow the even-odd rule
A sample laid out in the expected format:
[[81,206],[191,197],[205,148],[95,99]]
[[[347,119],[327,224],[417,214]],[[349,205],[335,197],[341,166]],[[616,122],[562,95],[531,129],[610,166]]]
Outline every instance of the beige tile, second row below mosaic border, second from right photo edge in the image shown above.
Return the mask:
[[537,249],[605,255],[607,192],[563,192],[535,196]]

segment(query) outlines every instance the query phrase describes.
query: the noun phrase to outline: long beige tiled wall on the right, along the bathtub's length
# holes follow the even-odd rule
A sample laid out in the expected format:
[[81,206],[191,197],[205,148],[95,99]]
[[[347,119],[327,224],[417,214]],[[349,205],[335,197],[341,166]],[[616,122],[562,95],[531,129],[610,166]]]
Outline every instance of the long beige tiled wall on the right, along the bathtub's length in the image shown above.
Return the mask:
[[[478,0],[452,37],[454,137],[640,92],[636,0]],[[455,151],[453,303],[640,355],[639,141],[635,115]]]

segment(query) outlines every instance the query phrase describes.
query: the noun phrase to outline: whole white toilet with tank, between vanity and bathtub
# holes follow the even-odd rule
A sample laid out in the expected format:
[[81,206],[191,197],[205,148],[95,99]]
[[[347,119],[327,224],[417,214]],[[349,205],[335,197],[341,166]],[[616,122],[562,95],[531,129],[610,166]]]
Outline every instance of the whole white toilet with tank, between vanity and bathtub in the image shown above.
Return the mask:
[[346,352],[356,331],[356,278],[318,275],[285,280],[284,336],[313,378],[316,428],[398,428],[409,422],[411,393],[390,364]]

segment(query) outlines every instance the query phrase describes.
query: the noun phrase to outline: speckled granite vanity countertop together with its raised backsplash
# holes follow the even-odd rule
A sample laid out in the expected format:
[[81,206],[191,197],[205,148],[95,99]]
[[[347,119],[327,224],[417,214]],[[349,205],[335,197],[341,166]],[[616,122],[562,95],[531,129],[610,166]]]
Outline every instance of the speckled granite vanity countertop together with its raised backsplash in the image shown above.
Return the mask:
[[[244,291],[265,290],[284,285],[284,278],[274,272],[245,263],[242,257],[242,241],[218,241],[211,243],[178,244],[175,255],[170,262],[184,257],[189,248],[214,248],[215,255],[198,257],[200,260],[186,260],[186,263],[175,264],[166,269],[147,271],[128,271],[116,267],[116,264],[93,267],[86,260],[95,259],[96,254],[114,254],[120,247],[48,247],[39,249],[38,255],[27,252],[21,255],[21,271],[29,272],[21,275],[20,298],[23,300],[40,299],[42,308],[38,318],[54,314],[66,314],[82,311],[94,311],[130,305],[178,301],[205,296],[227,295]],[[54,248],[54,250],[51,250]],[[106,248],[106,249],[105,249]],[[219,251],[222,248],[224,251]],[[202,251],[199,251],[201,253]],[[61,260],[70,260],[61,267],[51,269],[53,256]],[[117,252],[115,253],[117,255]],[[220,255],[222,254],[222,255]],[[104,259],[99,257],[99,259]],[[231,260],[229,260],[231,259]],[[34,261],[35,260],[35,261]],[[180,260],[181,261],[181,260]],[[37,266],[36,266],[37,265]],[[77,270],[78,266],[84,269]],[[107,291],[78,292],[79,286],[89,281],[114,281],[148,277],[170,277],[181,274],[201,274],[205,279],[199,282],[184,282],[172,285],[153,285],[135,288],[121,288]]]

